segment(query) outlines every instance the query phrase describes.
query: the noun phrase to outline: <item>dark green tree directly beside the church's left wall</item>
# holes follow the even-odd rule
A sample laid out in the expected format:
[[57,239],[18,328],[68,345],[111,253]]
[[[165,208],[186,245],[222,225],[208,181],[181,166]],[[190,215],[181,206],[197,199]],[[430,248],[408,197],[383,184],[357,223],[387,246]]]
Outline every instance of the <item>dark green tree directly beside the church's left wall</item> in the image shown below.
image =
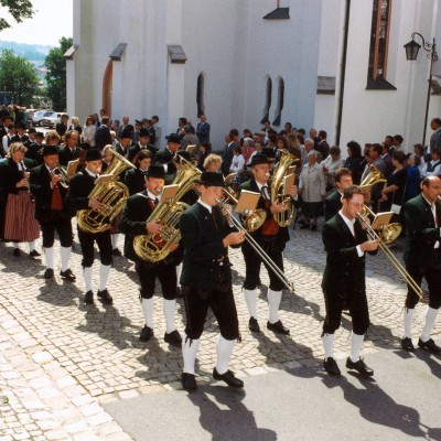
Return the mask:
[[53,108],[61,111],[66,110],[66,61],[65,52],[72,46],[73,40],[63,36],[60,40],[60,47],[49,51],[45,58],[47,97],[52,100]]

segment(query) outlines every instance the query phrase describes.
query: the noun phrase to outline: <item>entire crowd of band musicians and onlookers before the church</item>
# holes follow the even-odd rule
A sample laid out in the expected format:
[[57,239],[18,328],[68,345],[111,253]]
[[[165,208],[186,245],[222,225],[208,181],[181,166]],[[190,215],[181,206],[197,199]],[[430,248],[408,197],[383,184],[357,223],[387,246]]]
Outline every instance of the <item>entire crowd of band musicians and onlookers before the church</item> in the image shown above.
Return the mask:
[[[83,301],[86,304],[95,301],[96,244],[100,260],[97,298],[111,304],[107,280],[112,259],[121,257],[118,239],[123,234],[123,255],[135,262],[140,282],[144,316],[140,341],[150,341],[154,333],[153,294],[155,279],[159,279],[165,318],[164,341],[182,346],[184,389],[197,387],[195,358],[208,308],[219,324],[213,377],[232,387],[244,386],[228,369],[234,342],[240,340],[228,247],[240,247],[244,256],[249,331],[261,332],[257,301],[263,263],[270,280],[266,327],[289,335],[290,330],[279,318],[282,290],[289,287],[283,276],[289,227],[295,228],[295,223],[300,223],[302,229],[318,230],[318,218],[323,215],[323,243],[327,255],[322,282],[325,299],[323,367],[330,375],[341,375],[333,342],[342,311],[348,309],[353,333],[346,367],[364,376],[374,374],[359,355],[369,326],[365,255],[375,255],[380,246],[369,224],[357,222],[366,205],[372,215],[390,212],[392,220],[406,227],[402,228],[402,235],[407,236],[406,269],[418,286],[426,278],[429,287],[429,309],[418,345],[441,353],[430,337],[441,304],[441,119],[431,121],[433,133],[429,144],[416,144],[410,154],[405,152],[402,137],[396,135],[386,136],[381,143],[365,144],[363,153],[361,144],[351,141],[346,159],[340,147],[330,147],[324,130],[311,129],[306,136],[305,130],[295,129],[290,122],[279,132],[269,121],[257,132],[245,129],[239,133],[230,129],[225,147],[213,149],[205,115],[200,116],[196,128],[191,120],[180,118],[176,130],[164,138],[164,147],[157,116],[135,120],[135,125],[125,116],[119,123],[111,121],[101,109],[99,115],[88,116],[82,127],[78,118],[63,115],[55,130],[45,135],[33,128],[26,130],[25,123],[17,122],[11,114],[3,114],[1,121],[1,239],[13,243],[14,257],[22,255],[20,244],[28,243],[30,257],[37,258],[35,240],[41,234],[46,266],[44,278],[50,280],[55,277],[56,233],[61,245],[60,276],[75,282],[69,256],[74,238],[72,218],[76,215],[86,286]],[[71,170],[75,171],[72,175]],[[275,190],[273,179],[280,171],[281,178],[288,173],[295,175],[293,184],[282,185],[282,200],[278,197],[280,189]],[[106,182],[112,185],[107,186]],[[162,196],[165,184],[176,182],[178,187],[185,189],[181,192],[185,194],[180,193],[180,201],[189,207],[179,213],[178,225],[166,225],[166,220],[154,215],[175,209],[176,201],[162,200]],[[279,180],[277,185],[281,182],[284,181]],[[121,184],[127,186],[127,193]],[[111,192],[111,200],[120,207],[112,215],[107,212],[109,193],[103,197],[103,190]],[[232,193],[237,197],[241,193],[257,195],[257,205],[247,214],[252,216],[249,228],[237,230],[230,205],[224,197],[232,200]],[[294,208],[297,216],[292,222],[291,218],[288,224],[279,220],[279,214]],[[179,235],[169,241],[173,228]],[[166,252],[160,252],[157,259],[144,257],[142,247],[146,245],[140,244],[146,241],[140,241],[140,237],[149,238],[150,248],[146,252],[163,251],[163,248]],[[180,294],[186,311],[184,336],[174,324]],[[409,288],[402,340],[407,351],[413,349],[411,321],[418,301],[419,297]]]

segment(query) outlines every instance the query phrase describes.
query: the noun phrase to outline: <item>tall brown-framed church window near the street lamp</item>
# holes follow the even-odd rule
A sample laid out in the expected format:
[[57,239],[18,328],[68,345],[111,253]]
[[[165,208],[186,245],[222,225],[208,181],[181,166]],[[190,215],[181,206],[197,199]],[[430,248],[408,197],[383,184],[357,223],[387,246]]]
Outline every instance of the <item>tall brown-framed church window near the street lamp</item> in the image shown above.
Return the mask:
[[368,78],[386,79],[392,0],[374,0]]

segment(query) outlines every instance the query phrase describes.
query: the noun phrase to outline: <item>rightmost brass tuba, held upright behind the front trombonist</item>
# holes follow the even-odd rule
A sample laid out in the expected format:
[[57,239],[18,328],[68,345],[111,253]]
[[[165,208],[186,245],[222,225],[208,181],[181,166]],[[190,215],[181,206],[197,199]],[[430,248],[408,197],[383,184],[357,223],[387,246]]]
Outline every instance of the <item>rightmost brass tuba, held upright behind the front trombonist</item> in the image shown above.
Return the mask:
[[288,150],[280,150],[280,161],[271,182],[271,203],[279,202],[279,204],[287,204],[288,209],[286,212],[275,213],[272,216],[275,220],[281,227],[288,227],[294,218],[295,208],[290,196],[286,195],[286,189],[283,178],[289,166],[298,161],[294,154],[291,154]]

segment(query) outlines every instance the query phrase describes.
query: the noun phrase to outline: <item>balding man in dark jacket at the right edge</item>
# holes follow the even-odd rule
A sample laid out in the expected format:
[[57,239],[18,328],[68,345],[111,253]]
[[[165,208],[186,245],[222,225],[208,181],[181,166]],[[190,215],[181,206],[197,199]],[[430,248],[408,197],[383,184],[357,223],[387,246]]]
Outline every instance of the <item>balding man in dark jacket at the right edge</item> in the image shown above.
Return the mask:
[[[421,187],[422,193],[405,205],[408,236],[404,259],[406,270],[415,282],[421,287],[424,278],[429,288],[429,306],[418,346],[439,354],[441,347],[433,342],[430,333],[441,305],[441,207],[437,203],[441,197],[441,179],[435,175],[427,176]],[[401,340],[401,346],[406,351],[413,351],[411,323],[418,301],[418,295],[409,287],[404,318],[405,335]]]

